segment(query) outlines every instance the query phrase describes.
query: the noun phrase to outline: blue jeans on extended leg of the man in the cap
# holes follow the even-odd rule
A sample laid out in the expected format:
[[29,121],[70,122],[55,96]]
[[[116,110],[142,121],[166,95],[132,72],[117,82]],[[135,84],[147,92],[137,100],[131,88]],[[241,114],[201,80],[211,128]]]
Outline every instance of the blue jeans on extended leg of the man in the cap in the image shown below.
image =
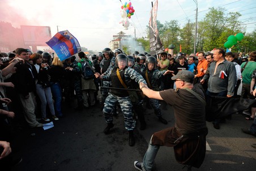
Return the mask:
[[142,164],[142,169],[144,171],[152,170],[153,163],[154,163],[154,160],[156,158],[156,154],[157,154],[159,148],[160,148],[160,146],[152,146],[151,140],[150,140],[150,143],[148,144],[148,149],[144,155],[143,164]]

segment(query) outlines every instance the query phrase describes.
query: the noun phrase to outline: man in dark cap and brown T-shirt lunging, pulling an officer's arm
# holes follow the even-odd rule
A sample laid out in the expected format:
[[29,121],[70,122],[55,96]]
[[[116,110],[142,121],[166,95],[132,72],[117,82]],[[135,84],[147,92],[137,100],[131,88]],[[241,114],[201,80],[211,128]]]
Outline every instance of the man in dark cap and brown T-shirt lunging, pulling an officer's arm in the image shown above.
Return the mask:
[[[152,170],[153,161],[160,146],[174,147],[176,160],[197,168],[203,163],[206,152],[206,135],[208,133],[205,119],[205,100],[202,89],[193,86],[194,74],[182,70],[172,77],[176,82],[176,89],[153,91],[146,84],[140,83],[144,95],[149,98],[164,100],[172,105],[176,123],[174,127],[155,132],[151,136],[150,144],[143,162],[134,162],[136,169]],[[199,148],[197,144],[199,143]],[[185,146],[184,146],[185,145]],[[195,146],[194,146],[195,145]],[[180,149],[187,151],[184,157]],[[193,148],[190,148],[193,147]]]

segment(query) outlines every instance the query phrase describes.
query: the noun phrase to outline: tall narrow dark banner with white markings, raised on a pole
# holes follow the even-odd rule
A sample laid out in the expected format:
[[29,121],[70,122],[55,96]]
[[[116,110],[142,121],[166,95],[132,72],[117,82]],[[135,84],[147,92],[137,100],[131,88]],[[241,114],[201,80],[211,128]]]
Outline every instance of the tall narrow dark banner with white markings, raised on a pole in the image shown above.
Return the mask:
[[154,3],[150,12],[150,54],[159,54],[164,52],[164,46],[160,40],[156,24],[158,0]]

